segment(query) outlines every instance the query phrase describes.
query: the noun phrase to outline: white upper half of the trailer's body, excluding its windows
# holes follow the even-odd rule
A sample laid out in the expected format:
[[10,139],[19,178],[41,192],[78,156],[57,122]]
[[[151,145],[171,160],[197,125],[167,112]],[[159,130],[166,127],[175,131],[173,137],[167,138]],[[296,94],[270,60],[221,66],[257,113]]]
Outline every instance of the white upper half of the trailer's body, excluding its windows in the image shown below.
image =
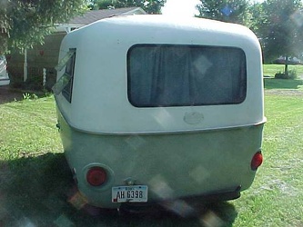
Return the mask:
[[[127,100],[126,56],[135,44],[237,47],[247,57],[242,104],[136,108]],[[247,27],[200,18],[126,15],[106,18],[66,35],[60,58],[76,48],[72,103],[56,102],[68,123],[92,133],[164,133],[217,129],[264,121],[261,51]],[[60,77],[64,72],[59,72]],[[188,124],[186,115],[202,118]]]

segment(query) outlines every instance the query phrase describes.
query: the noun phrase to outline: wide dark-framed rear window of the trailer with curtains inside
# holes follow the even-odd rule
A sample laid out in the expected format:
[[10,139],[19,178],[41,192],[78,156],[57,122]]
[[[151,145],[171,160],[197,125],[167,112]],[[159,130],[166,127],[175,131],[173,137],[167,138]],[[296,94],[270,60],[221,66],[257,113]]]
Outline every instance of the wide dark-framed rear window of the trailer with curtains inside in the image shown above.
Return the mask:
[[136,107],[240,104],[247,92],[246,56],[234,47],[137,44],[127,77]]

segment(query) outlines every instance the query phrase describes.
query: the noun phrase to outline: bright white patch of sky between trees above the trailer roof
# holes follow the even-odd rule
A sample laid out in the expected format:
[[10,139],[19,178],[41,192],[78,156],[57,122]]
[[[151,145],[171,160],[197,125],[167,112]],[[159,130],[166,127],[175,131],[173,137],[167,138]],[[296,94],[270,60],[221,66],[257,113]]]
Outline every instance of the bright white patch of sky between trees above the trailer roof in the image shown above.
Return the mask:
[[195,6],[199,0],[167,0],[162,8],[163,15],[194,16],[198,14]]

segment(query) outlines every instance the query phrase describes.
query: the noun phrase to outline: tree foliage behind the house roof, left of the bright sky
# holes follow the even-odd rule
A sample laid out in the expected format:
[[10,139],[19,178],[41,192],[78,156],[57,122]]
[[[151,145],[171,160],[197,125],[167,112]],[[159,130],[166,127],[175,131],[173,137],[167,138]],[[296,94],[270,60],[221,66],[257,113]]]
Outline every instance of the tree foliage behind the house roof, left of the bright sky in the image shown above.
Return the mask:
[[94,0],[92,1],[92,8],[107,9],[110,7],[141,7],[147,14],[158,15],[161,13],[161,7],[165,5],[167,0]]

